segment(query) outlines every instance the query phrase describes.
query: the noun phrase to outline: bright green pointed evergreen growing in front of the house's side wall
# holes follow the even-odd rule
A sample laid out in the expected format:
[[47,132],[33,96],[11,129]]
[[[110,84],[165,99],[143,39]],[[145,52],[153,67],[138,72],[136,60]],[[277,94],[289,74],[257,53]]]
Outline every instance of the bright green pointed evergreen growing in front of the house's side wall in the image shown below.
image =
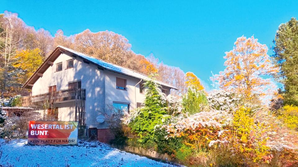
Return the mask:
[[160,89],[153,78],[144,83],[146,99],[145,106],[140,109],[138,116],[129,126],[138,134],[141,143],[153,143],[154,128],[162,123],[166,114],[166,107],[162,104]]

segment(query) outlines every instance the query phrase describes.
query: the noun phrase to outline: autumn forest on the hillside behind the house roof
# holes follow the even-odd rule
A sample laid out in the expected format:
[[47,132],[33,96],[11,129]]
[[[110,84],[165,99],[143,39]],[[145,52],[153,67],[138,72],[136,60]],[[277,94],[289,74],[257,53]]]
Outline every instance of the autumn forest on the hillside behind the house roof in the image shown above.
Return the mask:
[[21,85],[58,45],[145,75],[157,74],[156,79],[178,88],[173,94],[182,95],[186,92],[185,73],[179,67],[168,66],[153,54],[145,58],[134,53],[129,40],[122,35],[108,30],[91,32],[86,29],[65,36],[59,29],[52,36],[43,28],[35,30],[26,25],[17,13],[5,11],[0,15],[1,97],[28,95],[28,90],[20,88]]

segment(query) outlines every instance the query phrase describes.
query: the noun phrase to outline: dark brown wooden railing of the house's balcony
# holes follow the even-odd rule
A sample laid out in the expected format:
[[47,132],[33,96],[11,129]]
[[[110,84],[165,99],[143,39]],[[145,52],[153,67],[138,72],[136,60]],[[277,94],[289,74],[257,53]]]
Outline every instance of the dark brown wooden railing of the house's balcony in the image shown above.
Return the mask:
[[53,103],[75,99],[86,100],[86,89],[69,88],[34,96],[24,96],[22,97],[22,106],[28,107],[34,105],[43,105],[47,102]]

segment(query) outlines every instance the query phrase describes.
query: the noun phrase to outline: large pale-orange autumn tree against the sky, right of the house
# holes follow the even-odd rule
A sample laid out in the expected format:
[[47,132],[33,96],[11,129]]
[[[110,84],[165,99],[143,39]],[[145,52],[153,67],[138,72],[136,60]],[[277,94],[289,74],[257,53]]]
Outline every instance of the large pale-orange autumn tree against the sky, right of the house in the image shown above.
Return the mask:
[[271,94],[274,84],[263,76],[278,72],[269,56],[268,48],[254,36],[237,38],[233,50],[224,57],[226,69],[210,79],[218,81],[219,88],[242,94],[247,100]]

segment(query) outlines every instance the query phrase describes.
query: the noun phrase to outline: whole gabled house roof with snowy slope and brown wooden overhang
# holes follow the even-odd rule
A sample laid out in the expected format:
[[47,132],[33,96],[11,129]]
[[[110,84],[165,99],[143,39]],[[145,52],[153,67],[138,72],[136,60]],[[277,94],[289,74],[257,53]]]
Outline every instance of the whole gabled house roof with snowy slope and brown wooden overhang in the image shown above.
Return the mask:
[[[98,67],[98,69],[105,69],[105,70],[117,72],[120,74],[138,78],[138,79],[143,79],[143,80],[148,79],[148,76],[144,75],[142,73],[139,73],[139,72],[136,72],[136,71],[130,70],[128,68],[124,68],[124,67],[112,64],[112,63],[105,62],[103,60],[88,56],[86,54],[77,52],[77,51],[69,49],[69,48],[65,48],[63,46],[58,46],[52,52],[52,54],[43,62],[43,64],[34,72],[34,74],[26,81],[26,83],[23,85],[22,88],[32,88],[33,84],[37,81],[37,79],[40,76],[42,76],[42,74],[47,70],[47,68],[50,67],[53,64],[53,62],[56,60],[56,58],[63,52],[68,52],[69,54],[71,54],[74,57],[79,57],[79,58],[83,59],[84,62],[94,64],[95,66]],[[156,81],[156,82],[162,86],[166,86],[166,87],[173,88],[173,89],[178,89],[178,88],[175,88],[169,84],[162,83],[160,81]]]

